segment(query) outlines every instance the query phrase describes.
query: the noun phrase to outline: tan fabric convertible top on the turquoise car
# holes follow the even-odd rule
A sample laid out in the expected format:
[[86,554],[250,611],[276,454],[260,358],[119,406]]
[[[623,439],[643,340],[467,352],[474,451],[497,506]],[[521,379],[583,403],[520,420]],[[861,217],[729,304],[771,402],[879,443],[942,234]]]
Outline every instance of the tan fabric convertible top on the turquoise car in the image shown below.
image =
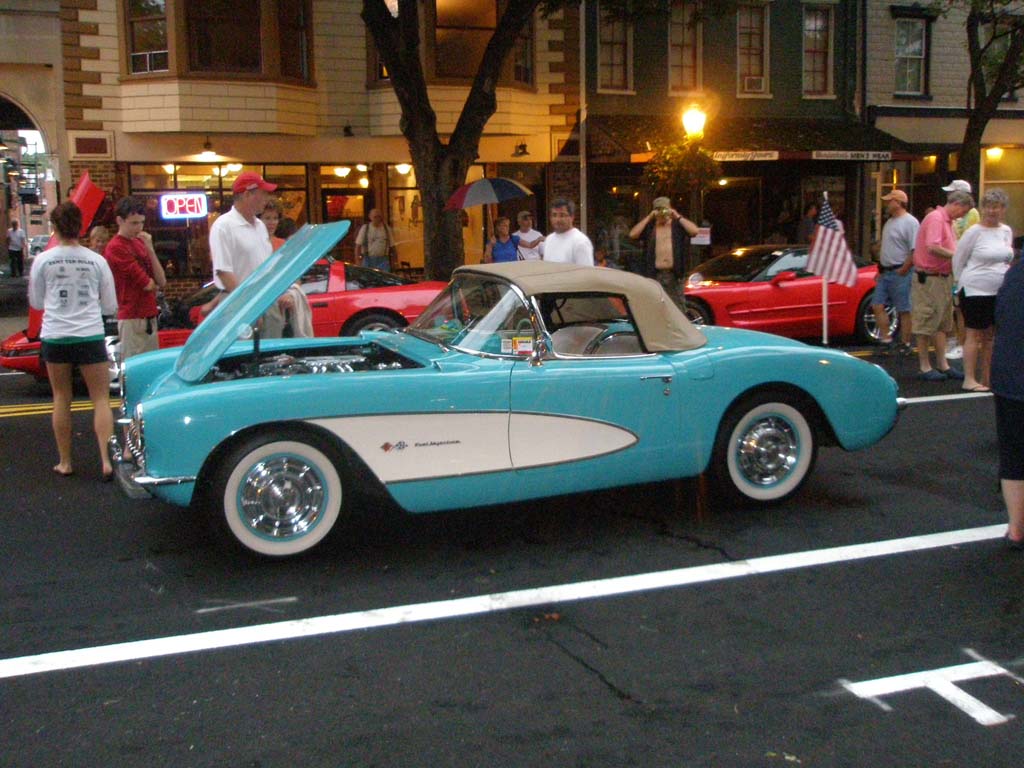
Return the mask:
[[615,293],[626,297],[644,346],[652,352],[696,349],[705,335],[686,319],[660,284],[620,269],[547,261],[508,261],[462,266],[460,272],[483,272],[514,283],[526,296],[547,293]]

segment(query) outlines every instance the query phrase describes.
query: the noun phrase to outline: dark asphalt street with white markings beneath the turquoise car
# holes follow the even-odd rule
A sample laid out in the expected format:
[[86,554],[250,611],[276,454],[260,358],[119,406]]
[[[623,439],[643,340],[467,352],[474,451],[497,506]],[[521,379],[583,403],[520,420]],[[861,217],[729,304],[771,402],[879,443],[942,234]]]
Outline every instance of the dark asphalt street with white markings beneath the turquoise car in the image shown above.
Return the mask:
[[823,450],[781,506],[709,509],[689,481],[365,506],[288,562],[100,483],[87,410],[56,477],[45,388],[0,376],[0,765],[1017,766],[1024,557],[991,398],[870,359],[911,400],[896,429]]

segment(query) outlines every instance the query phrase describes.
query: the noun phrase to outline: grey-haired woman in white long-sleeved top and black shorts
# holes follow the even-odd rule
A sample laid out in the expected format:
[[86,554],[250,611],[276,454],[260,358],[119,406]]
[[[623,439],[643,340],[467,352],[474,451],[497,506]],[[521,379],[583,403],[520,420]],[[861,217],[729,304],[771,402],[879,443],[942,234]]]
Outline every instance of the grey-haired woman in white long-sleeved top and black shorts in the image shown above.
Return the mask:
[[953,278],[959,286],[964,339],[964,389],[989,391],[995,294],[1014,257],[1014,236],[1002,223],[1010,198],[989,189],[981,198],[981,220],[964,232],[953,254]]

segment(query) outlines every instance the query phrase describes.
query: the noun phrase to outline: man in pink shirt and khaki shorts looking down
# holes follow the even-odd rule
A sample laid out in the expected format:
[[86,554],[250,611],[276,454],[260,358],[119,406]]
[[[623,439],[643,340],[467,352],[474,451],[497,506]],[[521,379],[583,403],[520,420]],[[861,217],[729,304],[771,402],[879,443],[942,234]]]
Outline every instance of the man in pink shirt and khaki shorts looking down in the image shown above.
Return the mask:
[[[910,323],[918,337],[919,379],[946,381],[964,374],[946,361],[946,334],[953,330],[952,258],[956,251],[953,221],[974,208],[965,191],[952,191],[946,204],[925,216],[913,246],[914,280],[910,287]],[[935,367],[929,345],[935,347]]]

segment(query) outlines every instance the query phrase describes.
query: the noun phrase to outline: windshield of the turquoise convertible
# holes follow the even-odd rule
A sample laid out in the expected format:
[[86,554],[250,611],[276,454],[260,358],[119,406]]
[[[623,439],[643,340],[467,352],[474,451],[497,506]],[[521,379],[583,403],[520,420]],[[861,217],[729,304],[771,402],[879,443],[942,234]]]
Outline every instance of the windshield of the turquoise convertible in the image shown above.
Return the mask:
[[519,356],[534,348],[529,308],[507,282],[482,274],[457,275],[409,333],[465,352]]

